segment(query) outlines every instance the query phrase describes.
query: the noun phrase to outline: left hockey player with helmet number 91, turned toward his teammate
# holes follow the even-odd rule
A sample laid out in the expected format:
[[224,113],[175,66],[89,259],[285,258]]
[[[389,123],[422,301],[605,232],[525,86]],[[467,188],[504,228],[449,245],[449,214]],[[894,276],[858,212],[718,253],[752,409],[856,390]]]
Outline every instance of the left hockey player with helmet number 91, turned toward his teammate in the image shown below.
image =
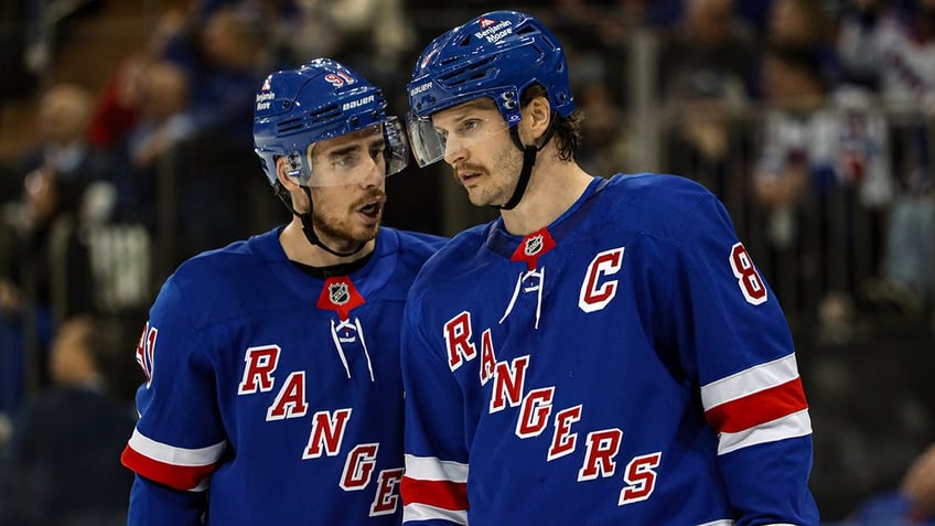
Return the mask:
[[442,238],[380,228],[408,160],[380,90],[319,58],[269,75],[254,139],[291,223],[182,264],[137,361],[130,525],[396,525],[399,326]]

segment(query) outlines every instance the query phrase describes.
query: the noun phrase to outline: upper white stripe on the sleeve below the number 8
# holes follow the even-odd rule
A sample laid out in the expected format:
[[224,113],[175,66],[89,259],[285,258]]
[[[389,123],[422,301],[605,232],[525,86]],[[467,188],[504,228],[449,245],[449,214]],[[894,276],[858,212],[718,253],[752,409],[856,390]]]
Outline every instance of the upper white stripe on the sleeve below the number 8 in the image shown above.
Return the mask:
[[795,354],[755,365],[726,378],[701,386],[701,402],[706,409],[743,398],[770,387],[785,384],[798,377]]

